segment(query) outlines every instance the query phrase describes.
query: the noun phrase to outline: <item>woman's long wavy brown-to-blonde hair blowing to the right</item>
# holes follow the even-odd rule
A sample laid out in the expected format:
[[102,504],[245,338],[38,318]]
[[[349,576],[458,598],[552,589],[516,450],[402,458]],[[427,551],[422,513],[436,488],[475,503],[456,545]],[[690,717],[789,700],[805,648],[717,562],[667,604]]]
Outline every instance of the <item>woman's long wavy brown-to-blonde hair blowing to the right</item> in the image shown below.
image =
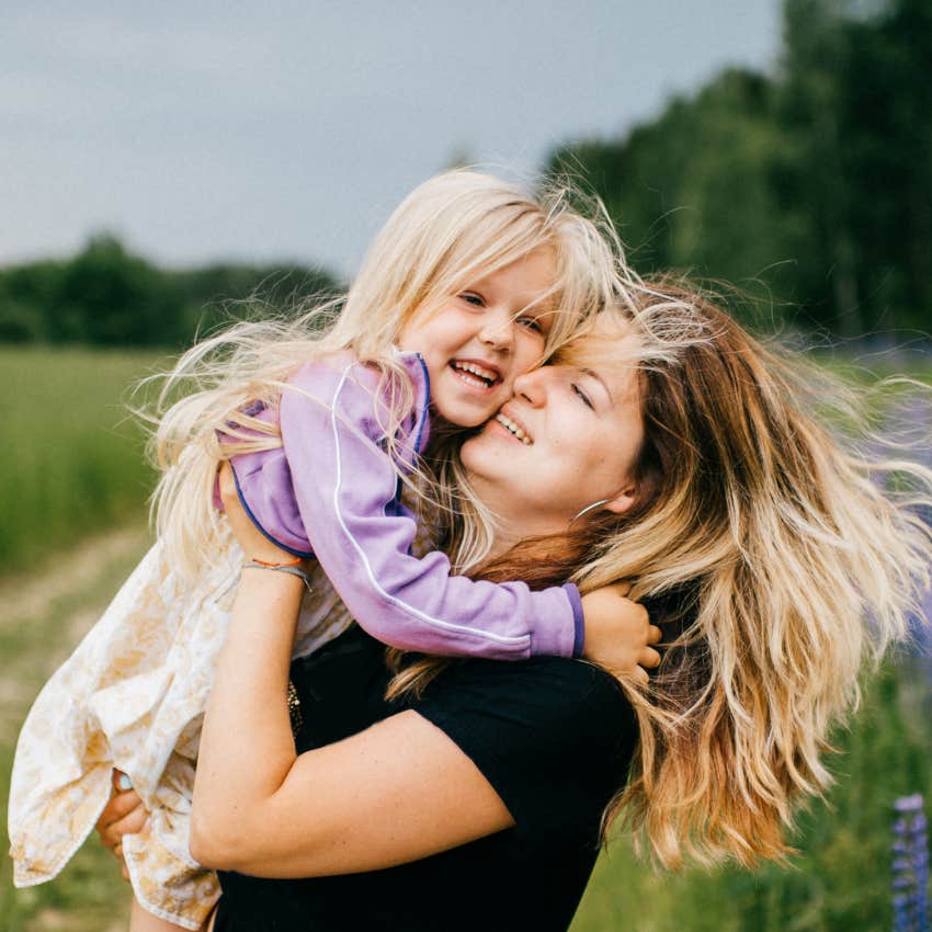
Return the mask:
[[[675,606],[650,685],[625,686],[640,741],[604,826],[622,816],[667,866],[781,859],[794,799],[831,783],[822,754],[865,659],[907,637],[930,583],[932,470],[884,453],[872,393],[766,349],[695,289],[645,282],[618,315],[645,424],[635,507],[461,566],[583,592],[628,580],[658,621]],[[584,346],[557,362],[622,344]],[[443,663],[406,666],[390,694]]]

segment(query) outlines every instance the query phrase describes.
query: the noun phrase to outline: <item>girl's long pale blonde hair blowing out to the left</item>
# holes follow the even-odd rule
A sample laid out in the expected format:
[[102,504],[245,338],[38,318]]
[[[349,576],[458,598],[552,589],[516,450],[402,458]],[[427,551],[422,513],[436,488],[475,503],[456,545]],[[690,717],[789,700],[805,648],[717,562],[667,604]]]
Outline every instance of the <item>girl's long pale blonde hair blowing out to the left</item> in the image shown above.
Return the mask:
[[288,376],[304,362],[350,352],[380,371],[391,454],[398,425],[413,404],[410,379],[393,346],[416,315],[429,315],[470,280],[542,247],[554,250],[556,264],[543,298],[554,314],[545,356],[581,321],[618,300],[624,265],[616,260],[611,224],[601,205],[593,219],[583,217],[570,206],[573,197],[566,186],[532,197],[470,170],[436,175],[395,211],[344,297],[311,303],[289,317],[257,300],[252,310],[263,321],[238,323],[184,353],[161,376],[156,410],[147,416],[155,425],[152,457],[161,470],[152,514],[178,572],[193,580],[211,558],[218,464],[234,452],[281,445],[277,428],[254,417],[252,406],[276,405],[288,390]]

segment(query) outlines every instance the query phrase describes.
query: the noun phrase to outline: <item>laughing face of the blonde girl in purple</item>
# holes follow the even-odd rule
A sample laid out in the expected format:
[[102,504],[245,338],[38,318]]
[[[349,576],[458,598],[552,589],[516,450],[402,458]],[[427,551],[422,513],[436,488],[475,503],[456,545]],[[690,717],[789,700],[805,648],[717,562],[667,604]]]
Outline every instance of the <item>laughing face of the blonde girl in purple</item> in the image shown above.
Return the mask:
[[435,414],[473,428],[511,398],[514,378],[538,365],[550,328],[544,296],[556,274],[541,248],[469,282],[440,307],[419,308],[401,331],[402,350],[421,353]]

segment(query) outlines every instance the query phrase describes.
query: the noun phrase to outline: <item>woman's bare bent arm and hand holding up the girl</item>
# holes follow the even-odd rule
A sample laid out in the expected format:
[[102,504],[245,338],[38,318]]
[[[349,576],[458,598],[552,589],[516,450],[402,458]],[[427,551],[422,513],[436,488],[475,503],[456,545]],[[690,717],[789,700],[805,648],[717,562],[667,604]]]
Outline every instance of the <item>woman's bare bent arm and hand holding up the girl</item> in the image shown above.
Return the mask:
[[[230,498],[250,556],[287,561]],[[376,870],[500,831],[513,820],[473,761],[416,712],[296,757],[288,663],[302,582],[242,575],[207,704],[191,825],[205,866],[269,877]]]

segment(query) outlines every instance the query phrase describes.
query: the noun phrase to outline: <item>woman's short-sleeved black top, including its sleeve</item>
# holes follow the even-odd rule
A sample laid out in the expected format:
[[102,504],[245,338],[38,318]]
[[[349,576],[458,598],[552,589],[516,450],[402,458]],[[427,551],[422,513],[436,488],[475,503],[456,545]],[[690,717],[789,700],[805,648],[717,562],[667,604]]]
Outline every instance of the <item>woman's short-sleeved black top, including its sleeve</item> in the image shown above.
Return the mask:
[[297,880],[221,873],[216,932],[565,930],[595,862],[602,811],[627,776],[636,721],[624,693],[577,660],[466,660],[421,700],[393,704],[384,652],[353,628],[293,664],[298,750],[413,708],[476,763],[515,826],[383,871]]

